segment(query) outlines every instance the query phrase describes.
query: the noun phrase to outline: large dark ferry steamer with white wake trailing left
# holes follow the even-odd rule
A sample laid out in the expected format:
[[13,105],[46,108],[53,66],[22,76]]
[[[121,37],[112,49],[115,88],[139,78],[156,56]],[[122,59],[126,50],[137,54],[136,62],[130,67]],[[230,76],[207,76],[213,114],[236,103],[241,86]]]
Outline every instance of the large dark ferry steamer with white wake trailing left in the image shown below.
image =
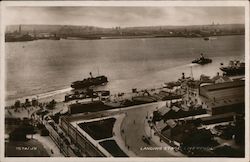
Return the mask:
[[83,79],[81,81],[75,81],[71,84],[71,87],[74,89],[84,89],[91,86],[103,85],[108,82],[108,78],[104,75],[93,77],[91,72],[89,74],[90,78]]

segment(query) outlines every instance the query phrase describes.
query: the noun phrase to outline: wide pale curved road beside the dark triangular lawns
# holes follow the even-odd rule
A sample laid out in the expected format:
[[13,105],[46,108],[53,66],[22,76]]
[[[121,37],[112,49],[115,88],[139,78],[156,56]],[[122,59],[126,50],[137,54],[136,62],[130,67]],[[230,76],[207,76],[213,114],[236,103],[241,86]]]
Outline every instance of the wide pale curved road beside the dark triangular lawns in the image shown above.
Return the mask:
[[166,150],[159,150],[162,147],[156,145],[153,141],[150,141],[150,145],[146,144],[142,140],[142,136],[147,136],[145,131],[146,116],[151,114],[156,107],[161,107],[165,102],[157,102],[151,105],[141,105],[141,108],[130,109],[126,113],[121,124],[122,138],[125,141],[125,145],[136,156],[139,157],[173,157],[174,155]]

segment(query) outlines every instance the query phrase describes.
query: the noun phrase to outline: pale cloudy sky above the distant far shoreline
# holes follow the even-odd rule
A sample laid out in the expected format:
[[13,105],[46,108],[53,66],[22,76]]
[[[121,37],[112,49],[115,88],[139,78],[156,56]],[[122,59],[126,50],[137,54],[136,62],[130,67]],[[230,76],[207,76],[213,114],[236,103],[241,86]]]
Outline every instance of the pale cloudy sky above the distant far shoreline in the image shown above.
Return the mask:
[[6,25],[130,27],[244,24],[244,7],[7,7]]

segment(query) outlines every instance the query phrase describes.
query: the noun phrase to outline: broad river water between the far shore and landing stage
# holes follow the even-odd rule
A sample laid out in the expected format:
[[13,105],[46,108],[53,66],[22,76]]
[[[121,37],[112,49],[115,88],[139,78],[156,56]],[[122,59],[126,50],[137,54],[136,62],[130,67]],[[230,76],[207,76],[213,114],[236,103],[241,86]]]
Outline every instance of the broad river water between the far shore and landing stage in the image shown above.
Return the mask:
[[[220,63],[244,60],[244,36],[140,38],[103,40],[37,40],[6,43],[6,99],[69,90],[71,82],[106,75],[111,93],[151,88],[180,78],[220,72]],[[194,65],[200,53],[211,64]],[[192,70],[191,70],[192,67]]]

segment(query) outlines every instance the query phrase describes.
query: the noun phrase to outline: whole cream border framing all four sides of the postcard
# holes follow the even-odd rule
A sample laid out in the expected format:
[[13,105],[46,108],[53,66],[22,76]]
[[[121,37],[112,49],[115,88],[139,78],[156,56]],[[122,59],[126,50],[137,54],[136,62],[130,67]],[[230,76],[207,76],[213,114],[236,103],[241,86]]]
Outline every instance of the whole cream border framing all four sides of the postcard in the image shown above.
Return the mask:
[[[249,161],[249,2],[247,1],[4,1],[1,2],[1,71],[0,71],[0,161],[9,162],[33,162],[33,161]],[[4,9],[7,6],[242,6],[245,7],[245,61],[246,61],[246,88],[245,88],[245,158],[7,158],[4,157],[4,77],[5,77],[5,55],[4,55]]]

